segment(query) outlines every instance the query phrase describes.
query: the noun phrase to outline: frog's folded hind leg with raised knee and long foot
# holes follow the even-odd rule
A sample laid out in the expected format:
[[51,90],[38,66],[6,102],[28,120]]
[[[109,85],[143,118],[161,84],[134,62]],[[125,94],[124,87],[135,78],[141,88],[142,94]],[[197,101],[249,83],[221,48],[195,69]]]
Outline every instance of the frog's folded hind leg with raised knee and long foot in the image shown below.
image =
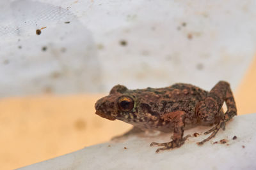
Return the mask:
[[[227,104],[227,111],[223,115],[221,114],[221,108],[224,101]],[[226,81],[218,82],[207,94],[204,101],[196,105],[196,115],[203,124],[213,124],[216,119],[220,118],[220,121],[215,127],[205,132],[205,134],[211,132],[212,134],[198,143],[198,145],[202,145],[211,138],[214,138],[221,128],[224,131],[225,123],[237,115],[236,103],[230,85]]]

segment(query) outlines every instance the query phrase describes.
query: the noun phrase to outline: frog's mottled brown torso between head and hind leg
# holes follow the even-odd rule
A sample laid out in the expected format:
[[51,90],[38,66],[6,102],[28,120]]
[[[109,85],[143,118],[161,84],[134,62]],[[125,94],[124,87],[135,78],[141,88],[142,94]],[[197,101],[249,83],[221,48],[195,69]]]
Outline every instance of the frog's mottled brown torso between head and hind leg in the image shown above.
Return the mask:
[[164,121],[164,114],[182,110],[186,112],[185,126],[197,125],[200,122],[195,106],[205,99],[207,92],[192,85],[175,84],[161,89],[127,90],[123,95],[135,96],[136,107],[128,114],[120,112],[117,119],[140,129],[172,132],[173,124],[170,120]]

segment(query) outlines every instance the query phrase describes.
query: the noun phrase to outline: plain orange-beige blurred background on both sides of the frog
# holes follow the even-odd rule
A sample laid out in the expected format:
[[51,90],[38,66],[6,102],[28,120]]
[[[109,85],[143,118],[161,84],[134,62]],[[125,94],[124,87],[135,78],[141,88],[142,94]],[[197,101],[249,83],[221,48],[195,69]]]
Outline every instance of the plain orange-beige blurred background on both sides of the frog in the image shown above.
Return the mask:
[[[256,112],[256,58],[234,92],[238,114]],[[74,152],[122,134],[131,125],[95,115],[105,94],[10,97],[0,100],[1,169],[14,169]]]

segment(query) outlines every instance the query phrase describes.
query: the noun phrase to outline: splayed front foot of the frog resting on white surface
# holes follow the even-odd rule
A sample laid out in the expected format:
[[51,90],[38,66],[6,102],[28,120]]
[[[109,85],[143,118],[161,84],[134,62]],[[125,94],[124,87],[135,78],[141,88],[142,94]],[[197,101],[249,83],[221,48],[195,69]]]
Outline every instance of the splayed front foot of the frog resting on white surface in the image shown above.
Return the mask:
[[157,143],[157,142],[152,142],[150,146],[163,146],[163,148],[158,148],[156,152],[158,153],[161,150],[169,150],[171,148],[179,148],[181,145],[184,144],[186,139],[188,139],[190,135],[185,136],[184,138],[177,140],[177,141],[170,141],[166,143]]

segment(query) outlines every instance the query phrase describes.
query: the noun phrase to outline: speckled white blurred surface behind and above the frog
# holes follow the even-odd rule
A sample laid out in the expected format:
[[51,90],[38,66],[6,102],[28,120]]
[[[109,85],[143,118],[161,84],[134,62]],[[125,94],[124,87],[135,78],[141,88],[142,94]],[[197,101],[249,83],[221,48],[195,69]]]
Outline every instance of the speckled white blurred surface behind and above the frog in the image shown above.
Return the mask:
[[256,51],[255,2],[1,1],[0,97],[107,92],[117,83],[235,88]]

